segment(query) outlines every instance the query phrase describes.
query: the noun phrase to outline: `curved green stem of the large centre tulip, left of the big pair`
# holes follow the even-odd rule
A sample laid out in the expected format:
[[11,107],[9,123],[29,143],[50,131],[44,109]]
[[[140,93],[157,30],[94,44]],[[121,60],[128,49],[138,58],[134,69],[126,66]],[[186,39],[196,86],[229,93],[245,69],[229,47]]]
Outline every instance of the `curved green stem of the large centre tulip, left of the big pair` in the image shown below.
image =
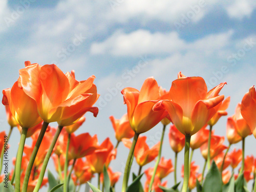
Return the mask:
[[137,143],[138,137],[139,137],[139,134],[135,133],[134,138],[133,138],[133,143],[132,143],[132,146],[130,148],[129,155],[128,155],[127,160],[126,160],[125,169],[124,169],[124,176],[123,176],[122,192],[125,192],[126,187],[127,187],[127,179],[129,178],[129,167],[132,166],[132,165],[130,165],[130,162],[131,162],[131,159],[132,159],[133,154],[134,154],[134,148],[135,148],[135,145]]

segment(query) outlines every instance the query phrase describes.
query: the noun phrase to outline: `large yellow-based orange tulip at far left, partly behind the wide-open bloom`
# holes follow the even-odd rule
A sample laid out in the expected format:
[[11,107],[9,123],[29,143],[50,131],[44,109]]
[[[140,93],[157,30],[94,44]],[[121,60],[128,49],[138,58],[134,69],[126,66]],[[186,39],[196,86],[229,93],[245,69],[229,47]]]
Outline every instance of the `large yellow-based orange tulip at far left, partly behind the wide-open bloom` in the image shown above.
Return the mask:
[[30,128],[41,121],[36,102],[18,87],[18,81],[11,89],[4,89],[3,94],[2,103],[9,104],[13,118],[20,126]]

